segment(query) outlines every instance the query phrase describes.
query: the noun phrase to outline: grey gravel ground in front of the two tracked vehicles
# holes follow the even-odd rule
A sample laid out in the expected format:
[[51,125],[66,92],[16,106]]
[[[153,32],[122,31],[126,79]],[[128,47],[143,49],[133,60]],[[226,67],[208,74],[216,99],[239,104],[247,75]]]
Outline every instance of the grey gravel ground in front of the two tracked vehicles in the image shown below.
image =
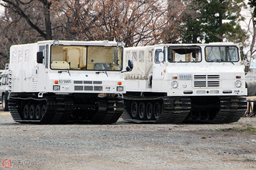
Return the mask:
[[9,161],[12,169],[256,169],[256,118],[36,125],[16,123],[0,110],[0,128],[0,169]]

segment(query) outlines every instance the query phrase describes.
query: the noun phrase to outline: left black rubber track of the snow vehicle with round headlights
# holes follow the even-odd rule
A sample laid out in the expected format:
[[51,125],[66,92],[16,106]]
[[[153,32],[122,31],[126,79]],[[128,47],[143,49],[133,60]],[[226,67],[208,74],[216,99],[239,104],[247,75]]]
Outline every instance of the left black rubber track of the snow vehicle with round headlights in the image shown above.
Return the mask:
[[[188,116],[191,109],[189,97],[161,97],[161,100],[163,100],[163,110],[155,121],[133,119],[126,109],[121,117],[123,120],[133,123],[180,124]],[[155,101],[159,101],[159,98],[156,98]]]

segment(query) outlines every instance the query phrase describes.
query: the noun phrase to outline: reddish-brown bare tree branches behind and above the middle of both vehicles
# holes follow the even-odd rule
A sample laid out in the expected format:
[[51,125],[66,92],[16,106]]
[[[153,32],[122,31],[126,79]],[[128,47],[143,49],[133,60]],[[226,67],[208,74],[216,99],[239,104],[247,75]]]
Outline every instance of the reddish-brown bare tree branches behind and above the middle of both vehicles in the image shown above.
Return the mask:
[[[175,4],[173,14],[169,12],[175,15],[173,19],[183,7],[182,2]],[[161,42],[165,26],[171,25],[168,2],[161,0],[66,0],[58,9],[67,18],[68,39],[116,39],[126,46],[155,44]]]

